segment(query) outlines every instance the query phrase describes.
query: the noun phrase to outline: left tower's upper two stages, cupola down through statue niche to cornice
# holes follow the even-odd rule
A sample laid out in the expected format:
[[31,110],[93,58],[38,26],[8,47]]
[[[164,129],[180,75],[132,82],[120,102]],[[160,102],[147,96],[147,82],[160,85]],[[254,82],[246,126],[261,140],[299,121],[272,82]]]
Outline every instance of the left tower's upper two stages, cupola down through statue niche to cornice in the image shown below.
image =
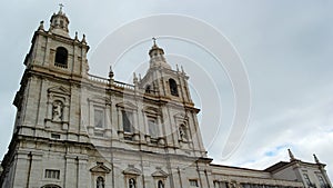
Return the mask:
[[[74,38],[69,36],[70,21],[62,7],[60,4],[58,13],[52,14],[49,30],[41,21],[33,34],[24,60],[27,68],[21,88],[13,102],[18,108],[14,132],[41,131],[41,136],[49,137],[46,130],[52,130],[58,131],[54,137],[62,138],[60,130],[77,132],[80,129],[77,123],[79,115],[71,113],[80,110],[72,103],[75,102],[73,96],[80,92],[82,80],[88,78],[89,46],[84,34],[81,40],[78,32]],[[37,91],[39,95],[33,95]],[[33,131],[24,130],[29,128]]]

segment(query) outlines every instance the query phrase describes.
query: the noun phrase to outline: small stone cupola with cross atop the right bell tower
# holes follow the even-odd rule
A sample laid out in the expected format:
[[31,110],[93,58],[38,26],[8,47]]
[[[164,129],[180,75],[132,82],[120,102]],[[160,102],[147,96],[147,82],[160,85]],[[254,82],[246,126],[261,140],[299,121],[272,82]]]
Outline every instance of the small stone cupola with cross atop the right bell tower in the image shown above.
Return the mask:
[[157,44],[157,39],[153,38],[153,46],[149,50],[150,68],[167,68],[171,69],[164,58],[164,50]]

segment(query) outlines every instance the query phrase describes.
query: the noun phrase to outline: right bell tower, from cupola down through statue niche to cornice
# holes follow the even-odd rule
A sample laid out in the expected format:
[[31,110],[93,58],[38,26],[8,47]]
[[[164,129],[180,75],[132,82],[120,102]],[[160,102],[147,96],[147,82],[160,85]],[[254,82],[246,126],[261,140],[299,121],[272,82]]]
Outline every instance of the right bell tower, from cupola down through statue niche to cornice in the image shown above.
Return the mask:
[[158,106],[163,111],[162,127],[165,132],[167,146],[179,148],[176,154],[189,156],[185,151],[193,150],[192,156],[206,157],[200,133],[196,115],[200,109],[194,107],[189,91],[189,76],[183,68],[173,70],[164,57],[164,50],[157,44],[149,50],[149,69],[139,80],[139,88],[149,96],[159,99]]

